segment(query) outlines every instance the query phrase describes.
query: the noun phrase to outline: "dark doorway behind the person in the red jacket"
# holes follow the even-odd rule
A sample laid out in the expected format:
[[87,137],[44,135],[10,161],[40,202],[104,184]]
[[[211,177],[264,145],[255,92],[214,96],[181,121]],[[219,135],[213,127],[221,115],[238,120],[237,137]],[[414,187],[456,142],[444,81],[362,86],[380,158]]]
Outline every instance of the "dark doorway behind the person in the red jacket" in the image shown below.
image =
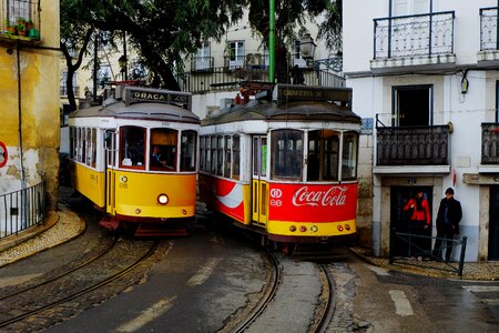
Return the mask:
[[[404,206],[409,199],[415,198],[418,191],[422,191],[424,198],[428,201],[429,210],[431,213],[431,198],[434,191],[431,186],[391,186],[390,188],[390,230],[399,233],[407,234],[409,229],[407,228],[407,219],[404,212]],[[434,216],[430,221],[432,223]],[[394,236],[393,243],[390,243],[390,251],[396,256],[408,256],[408,235]],[[425,251],[431,250],[431,228],[425,229],[420,233],[427,239],[421,240],[420,244]]]

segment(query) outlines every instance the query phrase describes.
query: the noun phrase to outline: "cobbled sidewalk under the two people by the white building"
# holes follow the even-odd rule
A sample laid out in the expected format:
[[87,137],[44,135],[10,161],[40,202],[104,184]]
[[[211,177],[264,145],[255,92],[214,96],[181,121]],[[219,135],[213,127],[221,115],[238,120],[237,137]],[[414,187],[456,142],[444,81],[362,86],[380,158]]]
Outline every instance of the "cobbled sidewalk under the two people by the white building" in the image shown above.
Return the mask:
[[[399,271],[411,274],[419,274],[426,276],[441,278],[441,279],[461,279],[472,281],[498,281],[499,280],[499,262],[465,262],[462,269],[462,276],[459,276],[456,272],[445,271],[450,266],[444,262],[435,261],[408,261],[398,260],[394,264],[389,264],[388,258],[376,258],[370,254],[370,250],[354,246],[350,248],[353,252],[363,258],[375,266],[383,268],[388,271]],[[451,263],[452,266],[457,266],[458,263]]]

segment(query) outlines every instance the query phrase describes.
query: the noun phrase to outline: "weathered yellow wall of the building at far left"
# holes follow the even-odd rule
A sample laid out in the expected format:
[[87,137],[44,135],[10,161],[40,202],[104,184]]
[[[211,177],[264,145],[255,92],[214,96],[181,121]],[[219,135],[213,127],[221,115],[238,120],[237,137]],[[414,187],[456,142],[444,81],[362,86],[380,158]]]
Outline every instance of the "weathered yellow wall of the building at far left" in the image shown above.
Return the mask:
[[39,48],[0,40],[0,113],[3,117],[0,141],[9,152],[7,165],[0,169],[0,193],[35,183],[43,175],[49,204],[55,209],[60,143],[59,1],[42,0],[40,7]]

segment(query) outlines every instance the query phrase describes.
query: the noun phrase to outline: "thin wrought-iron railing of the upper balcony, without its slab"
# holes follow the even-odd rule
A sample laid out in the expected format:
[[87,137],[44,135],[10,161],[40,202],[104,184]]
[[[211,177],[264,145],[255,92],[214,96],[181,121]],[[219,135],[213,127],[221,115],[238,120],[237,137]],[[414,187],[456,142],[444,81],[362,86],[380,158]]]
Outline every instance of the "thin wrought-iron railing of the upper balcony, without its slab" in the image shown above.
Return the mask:
[[454,11],[374,20],[374,58],[454,53]]

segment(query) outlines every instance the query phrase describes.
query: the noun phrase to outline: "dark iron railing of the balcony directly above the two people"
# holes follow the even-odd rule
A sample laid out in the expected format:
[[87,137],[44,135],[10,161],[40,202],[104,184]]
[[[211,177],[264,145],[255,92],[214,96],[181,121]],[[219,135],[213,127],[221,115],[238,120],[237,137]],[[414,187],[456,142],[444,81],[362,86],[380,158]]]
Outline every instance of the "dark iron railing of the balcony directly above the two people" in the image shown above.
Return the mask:
[[447,165],[449,127],[376,127],[377,165]]

